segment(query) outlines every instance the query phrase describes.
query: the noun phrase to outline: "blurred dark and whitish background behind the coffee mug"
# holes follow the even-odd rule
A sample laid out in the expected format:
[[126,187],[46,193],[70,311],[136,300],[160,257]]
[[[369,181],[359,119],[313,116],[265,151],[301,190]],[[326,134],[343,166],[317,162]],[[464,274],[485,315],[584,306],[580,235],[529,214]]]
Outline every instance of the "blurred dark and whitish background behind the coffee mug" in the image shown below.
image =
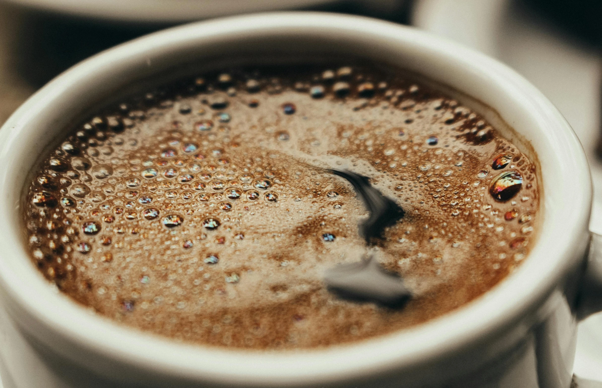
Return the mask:
[[[54,76],[90,55],[179,23],[270,10],[319,10],[409,24],[485,52],[529,79],[573,126],[602,233],[602,1],[0,0],[0,125]],[[575,374],[602,387],[602,314],[582,322]],[[1,387],[1,383],[0,383]]]

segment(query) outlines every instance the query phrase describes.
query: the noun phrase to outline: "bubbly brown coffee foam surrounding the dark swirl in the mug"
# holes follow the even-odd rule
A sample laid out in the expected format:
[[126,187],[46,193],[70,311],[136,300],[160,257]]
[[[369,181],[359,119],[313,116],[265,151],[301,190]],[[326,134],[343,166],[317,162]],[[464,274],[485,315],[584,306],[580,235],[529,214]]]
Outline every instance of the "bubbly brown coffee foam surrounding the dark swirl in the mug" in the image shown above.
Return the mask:
[[[371,178],[405,210],[375,248],[412,298],[341,300],[368,212],[329,173]],[[311,348],[450,312],[529,253],[536,164],[479,114],[375,66],[228,69],[99,111],[37,168],[31,257],[98,314],[176,340]]]

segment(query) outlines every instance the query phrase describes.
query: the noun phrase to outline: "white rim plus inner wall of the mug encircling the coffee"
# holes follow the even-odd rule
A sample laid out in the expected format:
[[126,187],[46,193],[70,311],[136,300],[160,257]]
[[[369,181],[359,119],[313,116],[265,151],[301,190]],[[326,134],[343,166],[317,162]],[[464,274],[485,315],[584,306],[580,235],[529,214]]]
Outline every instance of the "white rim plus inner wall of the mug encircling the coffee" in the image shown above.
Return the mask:
[[[191,377],[223,380],[234,373],[237,381],[255,378],[255,381],[264,379],[266,384],[271,384],[295,379],[319,381],[343,375],[361,376],[377,367],[411,369],[412,365],[426,362],[433,355],[449,356],[459,346],[474,343],[485,331],[501,330],[550,292],[559,274],[572,265],[567,259],[574,256],[571,249],[582,241],[589,217],[591,188],[585,157],[576,137],[541,93],[500,64],[422,32],[355,17],[282,15],[279,20],[274,16],[256,16],[255,19],[251,16],[241,17],[238,24],[216,21],[197,28],[183,26],[152,38],[140,38],[69,70],[13,115],[0,131],[0,197],[3,199],[0,217],[5,220],[0,226],[0,233],[5,236],[0,241],[4,252],[0,275],[10,298],[27,306],[25,310],[31,316],[46,322],[62,336],[75,338],[84,343],[84,347],[90,346],[99,352],[113,351],[124,360],[145,359],[149,365],[152,363],[168,374],[172,368],[171,372]],[[29,263],[28,252],[22,244],[22,219],[16,206],[25,177],[39,155],[48,149],[48,144],[60,138],[64,128],[81,119],[96,104],[118,96],[132,81],[157,75],[179,76],[200,61],[215,66],[225,57],[268,61],[280,55],[350,55],[381,61],[409,69],[495,106],[500,117],[520,132],[524,141],[532,144],[541,162],[546,222],[538,244],[517,273],[479,300],[421,327],[382,339],[335,346],[327,351],[249,354],[248,358],[157,339],[137,350],[124,350],[118,343],[123,336],[133,338],[128,341],[129,345],[148,342],[151,337],[132,334],[86,315],[62,295],[49,292],[51,287]],[[559,179],[581,189],[558,187]],[[570,208],[558,206],[564,202],[571,203]],[[563,229],[557,227],[558,224],[563,224]],[[55,311],[50,311],[45,304],[53,304]],[[70,316],[71,328],[66,328],[65,314]],[[85,325],[88,327],[83,327]],[[93,336],[94,330],[102,338],[113,334],[113,339],[99,343]],[[119,351],[115,351],[116,348]],[[184,354],[173,356],[175,350]],[[166,357],[166,352],[170,357]],[[223,366],[208,360],[216,354],[220,354],[220,360],[229,357],[231,363]],[[324,363],[334,358],[338,360],[337,365]]]

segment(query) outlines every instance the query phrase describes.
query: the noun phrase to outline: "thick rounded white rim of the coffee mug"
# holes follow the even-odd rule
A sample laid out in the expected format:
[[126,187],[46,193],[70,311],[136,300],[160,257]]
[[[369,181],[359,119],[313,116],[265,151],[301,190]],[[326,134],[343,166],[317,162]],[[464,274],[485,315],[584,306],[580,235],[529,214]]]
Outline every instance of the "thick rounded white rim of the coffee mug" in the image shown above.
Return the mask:
[[[48,328],[57,337],[69,339],[92,353],[117,362],[199,381],[278,386],[412,368],[477,343],[486,335],[516,322],[526,310],[543,300],[577,260],[572,256],[573,250],[583,241],[589,218],[591,180],[585,153],[573,130],[557,109],[514,70],[444,38],[368,17],[319,12],[226,17],[154,32],[77,64],[30,97],[0,129],[0,198],[3,199],[0,218],[14,212],[14,203],[4,199],[10,197],[10,188],[14,187],[10,183],[13,177],[9,167],[11,155],[19,148],[16,146],[19,135],[34,131],[28,129],[28,125],[41,119],[39,115],[45,106],[60,102],[75,82],[106,76],[107,69],[118,70],[119,66],[131,61],[150,63],[155,51],[161,52],[170,46],[202,45],[212,37],[226,34],[261,35],[265,31],[309,30],[341,32],[347,34],[350,41],[358,40],[359,35],[375,42],[387,40],[388,44],[397,45],[399,51],[414,53],[409,55],[418,55],[416,51],[431,55],[432,61],[443,61],[445,66],[452,67],[453,64],[459,69],[465,66],[465,76],[489,82],[483,87],[493,85],[501,97],[507,97],[523,109],[532,109],[533,122],[541,126],[538,130],[545,137],[541,141],[547,142],[545,146],[550,147],[550,152],[557,153],[557,160],[552,158],[549,168],[542,166],[545,193],[541,206],[545,206],[546,222],[526,262],[515,273],[509,274],[477,300],[439,318],[386,336],[318,350],[230,351],[179,344],[91,315],[64,295],[51,292],[51,286],[31,265],[28,255],[12,261],[5,259],[11,252],[13,256],[23,256],[24,248],[19,250],[15,245],[15,236],[20,233],[4,223],[0,224],[0,235],[8,238],[0,241],[0,251],[4,252],[4,259],[0,260],[0,286],[10,306],[17,306],[16,310],[25,312],[28,319]],[[500,114],[504,117],[502,112]],[[508,120],[507,117],[504,119]],[[538,155],[538,148],[542,147],[535,147]],[[556,192],[551,192],[550,188],[554,187],[552,173],[560,182],[572,182],[573,185],[561,185]],[[576,186],[581,189],[575,189]],[[573,205],[555,207],[558,199]],[[562,230],[549,225],[550,221],[559,220],[564,220]],[[18,244],[22,245],[20,241]]]

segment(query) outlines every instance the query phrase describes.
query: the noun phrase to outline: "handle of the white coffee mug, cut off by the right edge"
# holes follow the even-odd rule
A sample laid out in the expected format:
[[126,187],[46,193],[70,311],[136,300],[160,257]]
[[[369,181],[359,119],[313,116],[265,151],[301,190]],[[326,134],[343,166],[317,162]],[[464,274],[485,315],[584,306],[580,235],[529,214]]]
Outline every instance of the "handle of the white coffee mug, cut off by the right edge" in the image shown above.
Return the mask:
[[591,232],[588,259],[577,304],[577,319],[602,311],[602,235]]

